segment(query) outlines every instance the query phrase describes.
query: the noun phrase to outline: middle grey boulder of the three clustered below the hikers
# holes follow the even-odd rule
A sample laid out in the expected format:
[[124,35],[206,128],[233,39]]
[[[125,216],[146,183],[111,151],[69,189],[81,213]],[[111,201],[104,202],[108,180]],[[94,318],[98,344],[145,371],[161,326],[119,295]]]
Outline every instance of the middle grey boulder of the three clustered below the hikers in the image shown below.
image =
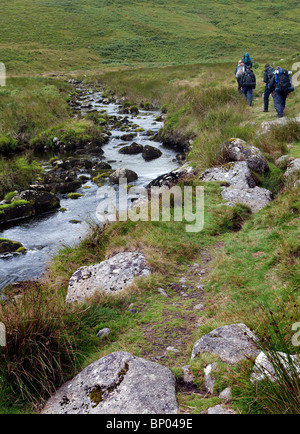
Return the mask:
[[200,181],[220,181],[239,189],[254,188],[256,183],[251,175],[248,164],[245,161],[227,163],[223,166],[212,167],[205,170]]

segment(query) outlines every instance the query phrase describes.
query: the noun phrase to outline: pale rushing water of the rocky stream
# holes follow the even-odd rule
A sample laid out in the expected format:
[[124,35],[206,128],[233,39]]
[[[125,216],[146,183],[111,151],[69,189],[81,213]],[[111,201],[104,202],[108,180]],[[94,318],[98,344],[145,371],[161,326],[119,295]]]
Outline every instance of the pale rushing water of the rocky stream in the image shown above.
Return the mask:
[[[124,143],[120,138],[124,132],[120,129],[111,130],[112,135],[109,142],[102,147],[104,161],[108,162],[114,170],[123,167],[136,172],[139,178],[133,184],[146,186],[158,176],[178,167],[176,152],[164,147],[159,142],[150,140],[150,137],[146,134],[147,130],[157,133],[162,128],[163,122],[156,121],[160,115],[159,112],[140,110],[137,116],[119,114],[120,107],[117,104],[103,103],[101,92],[87,91],[85,98],[80,102],[84,106],[90,105],[89,111],[105,110],[109,116],[117,116],[118,118],[127,116],[133,124],[144,129],[144,132],[138,133],[133,141],[143,146],[154,146],[162,151],[160,158],[149,162],[146,162],[141,154],[120,154],[118,145]],[[84,114],[87,109],[81,108],[81,111]],[[136,128],[135,126],[134,129]],[[132,142],[128,142],[126,145],[130,145]],[[87,159],[89,157],[89,155],[86,155]],[[91,158],[95,159],[95,157]],[[46,156],[41,161],[45,168],[47,168],[47,165],[49,166]],[[84,186],[90,188],[85,189]],[[66,195],[58,195],[61,208],[65,208],[65,212],[58,210],[43,214],[34,219],[20,221],[17,225],[0,231],[0,238],[18,241],[27,249],[27,253],[23,255],[9,254],[0,256],[0,290],[8,284],[40,277],[50,265],[53,256],[60,249],[66,246],[74,247],[86,236],[90,227],[89,223],[97,221],[96,209],[99,199],[96,197],[98,190],[96,184],[88,181],[84,186],[77,190],[78,193],[83,195],[78,200],[69,199]],[[71,223],[71,220],[76,220],[76,224]]]

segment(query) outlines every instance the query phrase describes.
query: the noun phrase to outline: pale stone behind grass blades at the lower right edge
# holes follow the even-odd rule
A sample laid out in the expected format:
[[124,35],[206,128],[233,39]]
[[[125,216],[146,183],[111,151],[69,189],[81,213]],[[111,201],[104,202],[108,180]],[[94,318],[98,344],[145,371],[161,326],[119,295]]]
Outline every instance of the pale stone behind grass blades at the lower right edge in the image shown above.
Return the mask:
[[277,369],[285,371],[285,373],[291,375],[291,378],[295,374],[300,378],[300,356],[288,356],[285,353],[277,352],[276,356],[272,355],[268,357],[265,353],[261,352],[255,360],[251,382],[255,383],[266,379],[272,382],[280,381],[276,373]]

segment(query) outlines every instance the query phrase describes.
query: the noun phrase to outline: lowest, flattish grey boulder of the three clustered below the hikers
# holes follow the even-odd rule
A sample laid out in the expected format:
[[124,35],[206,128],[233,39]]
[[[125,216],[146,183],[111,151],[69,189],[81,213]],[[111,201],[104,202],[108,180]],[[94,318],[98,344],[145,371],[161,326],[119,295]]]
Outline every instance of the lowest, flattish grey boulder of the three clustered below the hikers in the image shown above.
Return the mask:
[[229,187],[224,188],[221,195],[228,201],[227,205],[242,203],[249,206],[253,213],[260,211],[273,200],[272,192],[261,187],[248,189]]

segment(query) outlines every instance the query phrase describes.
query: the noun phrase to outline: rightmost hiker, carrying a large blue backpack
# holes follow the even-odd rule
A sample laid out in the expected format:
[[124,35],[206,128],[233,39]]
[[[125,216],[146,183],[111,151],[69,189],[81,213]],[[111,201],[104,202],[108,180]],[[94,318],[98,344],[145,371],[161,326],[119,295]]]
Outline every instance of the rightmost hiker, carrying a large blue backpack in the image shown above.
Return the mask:
[[269,90],[274,96],[275,108],[279,118],[283,118],[286,99],[295,89],[292,87],[290,72],[288,69],[276,68],[274,77],[269,83]]

